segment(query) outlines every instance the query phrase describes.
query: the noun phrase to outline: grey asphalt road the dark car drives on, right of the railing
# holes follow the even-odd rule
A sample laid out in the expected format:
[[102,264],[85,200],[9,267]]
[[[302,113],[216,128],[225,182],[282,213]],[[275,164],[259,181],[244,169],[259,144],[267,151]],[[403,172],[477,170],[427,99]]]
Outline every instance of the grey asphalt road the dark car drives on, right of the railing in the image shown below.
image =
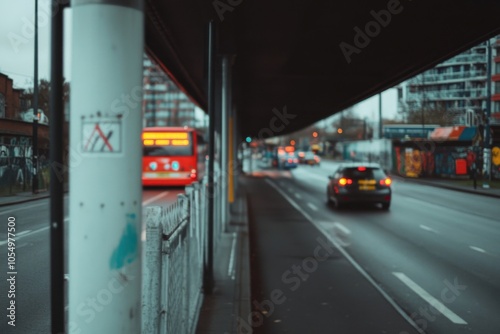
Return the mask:
[[[499,199],[395,181],[389,212],[337,211],[325,204],[334,168],[259,171],[266,178],[248,181],[252,298],[288,293],[273,312],[264,307],[257,333],[500,333]],[[294,286],[285,273],[304,265],[318,237],[341,250],[309,263]]]

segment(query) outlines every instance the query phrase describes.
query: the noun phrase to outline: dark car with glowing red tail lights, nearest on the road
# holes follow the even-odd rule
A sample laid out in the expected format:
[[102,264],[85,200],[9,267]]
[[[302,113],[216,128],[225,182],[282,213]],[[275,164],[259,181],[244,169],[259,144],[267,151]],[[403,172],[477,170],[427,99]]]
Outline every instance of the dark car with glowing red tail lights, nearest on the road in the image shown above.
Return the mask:
[[378,164],[342,164],[329,179],[327,201],[336,208],[350,203],[380,203],[384,210],[391,206],[392,181]]

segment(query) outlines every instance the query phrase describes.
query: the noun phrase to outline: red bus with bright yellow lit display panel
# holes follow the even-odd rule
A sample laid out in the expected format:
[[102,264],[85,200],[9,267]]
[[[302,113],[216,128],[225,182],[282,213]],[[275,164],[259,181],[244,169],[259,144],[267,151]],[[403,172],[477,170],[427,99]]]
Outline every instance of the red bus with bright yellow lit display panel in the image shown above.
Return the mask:
[[142,131],[142,185],[183,186],[200,177],[198,134],[187,127],[151,127]]

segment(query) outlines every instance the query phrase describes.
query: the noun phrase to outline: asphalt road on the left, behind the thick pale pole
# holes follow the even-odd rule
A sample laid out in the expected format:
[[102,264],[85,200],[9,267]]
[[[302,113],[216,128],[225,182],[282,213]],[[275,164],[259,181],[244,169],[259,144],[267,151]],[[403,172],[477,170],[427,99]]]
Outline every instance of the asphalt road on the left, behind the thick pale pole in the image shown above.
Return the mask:
[[[143,208],[166,206],[177,199],[184,188],[146,188],[143,191]],[[65,222],[67,233],[68,196],[65,197]],[[0,333],[50,333],[50,248],[49,200],[41,199],[0,209]],[[7,294],[7,224],[9,217],[16,222],[16,321],[15,327],[7,324],[9,301]],[[67,245],[66,245],[67,249]],[[68,254],[68,252],[66,252]]]

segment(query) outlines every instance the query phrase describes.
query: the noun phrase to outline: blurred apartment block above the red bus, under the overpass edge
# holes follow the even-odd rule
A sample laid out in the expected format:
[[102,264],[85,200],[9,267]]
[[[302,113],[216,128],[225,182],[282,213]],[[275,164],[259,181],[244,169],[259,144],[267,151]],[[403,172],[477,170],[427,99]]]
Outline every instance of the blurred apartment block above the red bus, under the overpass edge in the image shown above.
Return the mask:
[[144,56],[144,126],[194,127],[195,104],[147,55]]

